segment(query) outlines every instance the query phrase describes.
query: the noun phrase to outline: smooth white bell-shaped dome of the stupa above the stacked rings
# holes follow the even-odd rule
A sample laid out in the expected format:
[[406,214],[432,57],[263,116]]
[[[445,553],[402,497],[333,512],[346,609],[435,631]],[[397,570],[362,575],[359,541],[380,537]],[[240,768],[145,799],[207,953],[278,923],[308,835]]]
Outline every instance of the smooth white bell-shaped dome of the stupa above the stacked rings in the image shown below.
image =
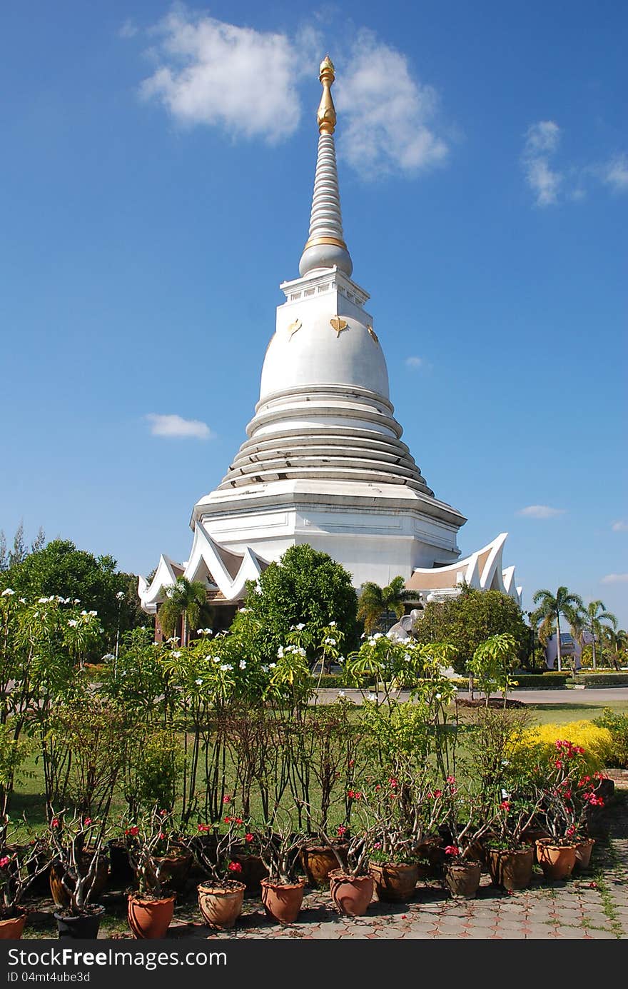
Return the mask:
[[341,319],[346,328],[339,333],[331,326],[329,312],[314,318],[304,314],[297,330],[296,319],[287,325],[278,320],[262,368],[260,402],[311,385],[354,386],[389,398],[386,359],[375,334],[358,319]]

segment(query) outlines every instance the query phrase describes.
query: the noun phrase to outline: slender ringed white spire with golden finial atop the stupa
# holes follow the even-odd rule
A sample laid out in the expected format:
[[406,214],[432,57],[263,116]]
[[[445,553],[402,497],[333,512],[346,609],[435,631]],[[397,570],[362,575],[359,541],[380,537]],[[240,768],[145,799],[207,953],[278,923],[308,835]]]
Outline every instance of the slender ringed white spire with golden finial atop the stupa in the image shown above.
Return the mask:
[[342,233],[336,151],[333,141],[336,111],[331,96],[335,72],[329,55],[325,55],[320,62],[318,78],[322,85],[322,96],[316,112],[318,153],[314,173],[310,233],[301,255],[299,273],[303,277],[318,268],[332,268],[335,265],[350,278],[353,262]]

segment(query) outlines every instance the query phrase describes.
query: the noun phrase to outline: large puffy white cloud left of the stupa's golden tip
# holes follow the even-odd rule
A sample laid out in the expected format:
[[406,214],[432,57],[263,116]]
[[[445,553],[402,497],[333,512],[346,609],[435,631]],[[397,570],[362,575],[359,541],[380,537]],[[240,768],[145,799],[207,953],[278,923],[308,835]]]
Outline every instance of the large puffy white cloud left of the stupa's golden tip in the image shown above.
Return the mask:
[[184,8],[153,29],[159,65],[140,92],[179,122],[219,126],[269,143],[291,135],[301,117],[295,87],[303,65],[286,35],[226,24]]

